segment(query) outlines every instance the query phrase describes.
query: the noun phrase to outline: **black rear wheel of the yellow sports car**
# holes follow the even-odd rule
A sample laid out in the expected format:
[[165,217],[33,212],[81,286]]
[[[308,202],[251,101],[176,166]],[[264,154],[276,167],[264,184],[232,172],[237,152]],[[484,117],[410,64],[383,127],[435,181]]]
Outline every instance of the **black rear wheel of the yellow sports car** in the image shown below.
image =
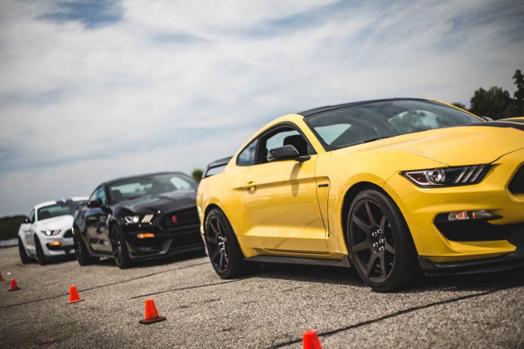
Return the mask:
[[213,268],[222,279],[242,276],[258,269],[258,263],[244,260],[231,224],[220,209],[212,209],[208,214],[204,237]]

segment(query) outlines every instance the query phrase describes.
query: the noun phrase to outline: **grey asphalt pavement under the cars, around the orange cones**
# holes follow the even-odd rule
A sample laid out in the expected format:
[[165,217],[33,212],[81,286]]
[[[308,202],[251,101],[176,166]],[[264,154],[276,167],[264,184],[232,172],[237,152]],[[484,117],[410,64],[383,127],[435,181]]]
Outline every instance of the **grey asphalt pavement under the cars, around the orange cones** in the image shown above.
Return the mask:
[[[11,247],[0,273],[0,348],[302,348],[309,329],[323,348],[524,348],[524,268],[379,294],[351,269],[266,264],[222,280],[204,255],[119,270],[22,265]],[[71,285],[84,301],[67,303]],[[147,299],[166,321],[138,322]]]

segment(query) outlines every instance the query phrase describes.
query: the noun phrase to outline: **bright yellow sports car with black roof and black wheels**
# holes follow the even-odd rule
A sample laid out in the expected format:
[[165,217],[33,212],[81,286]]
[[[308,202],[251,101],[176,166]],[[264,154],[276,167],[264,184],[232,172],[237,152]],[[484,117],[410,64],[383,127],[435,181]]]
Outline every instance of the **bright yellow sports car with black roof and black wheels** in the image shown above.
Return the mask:
[[225,279],[260,262],[352,266],[389,292],[422,271],[522,266],[524,118],[427,99],[282,116],[208,166],[197,209]]

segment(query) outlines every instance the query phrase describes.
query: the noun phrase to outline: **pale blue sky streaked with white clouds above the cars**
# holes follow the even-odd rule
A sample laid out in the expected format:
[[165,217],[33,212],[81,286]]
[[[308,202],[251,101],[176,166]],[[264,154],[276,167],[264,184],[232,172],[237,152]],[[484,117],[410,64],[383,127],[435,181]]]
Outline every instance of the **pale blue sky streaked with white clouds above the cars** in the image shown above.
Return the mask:
[[522,0],[0,0],[0,217],[190,174],[277,116],[513,94]]

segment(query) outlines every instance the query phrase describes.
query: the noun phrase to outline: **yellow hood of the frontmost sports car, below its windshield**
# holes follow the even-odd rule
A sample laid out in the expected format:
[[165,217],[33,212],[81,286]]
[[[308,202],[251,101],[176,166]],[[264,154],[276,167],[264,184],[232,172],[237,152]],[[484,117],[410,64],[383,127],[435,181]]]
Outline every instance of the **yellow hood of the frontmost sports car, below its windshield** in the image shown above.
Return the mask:
[[475,126],[449,127],[387,138],[362,144],[364,151],[386,150],[413,153],[448,166],[489,164],[524,148],[523,123],[479,122]]

